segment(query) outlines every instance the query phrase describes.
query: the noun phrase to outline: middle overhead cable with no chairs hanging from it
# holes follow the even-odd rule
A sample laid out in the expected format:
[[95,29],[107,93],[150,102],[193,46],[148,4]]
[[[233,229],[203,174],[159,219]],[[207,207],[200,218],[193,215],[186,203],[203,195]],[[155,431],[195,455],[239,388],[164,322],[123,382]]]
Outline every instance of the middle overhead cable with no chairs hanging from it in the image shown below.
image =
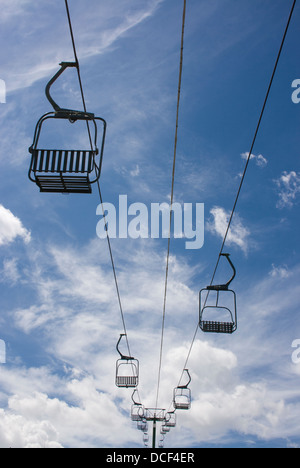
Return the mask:
[[173,158],[173,169],[172,169],[171,203],[170,203],[170,224],[169,224],[168,251],[167,251],[167,263],[166,263],[166,275],[165,275],[165,290],[164,290],[163,318],[162,318],[162,328],[161,328],[161,343],[160,343],[158,379],[157,379],[157,393],[156,393],[156,405],[155,405],[156,408],[158,407],[158,398],[159,398],[159,389],[160,389],[160,378],[161,378],[161,368],[162,368],[163,344],[164,344],[164,329],[165,329],[165,319],[166,319],[166,305],[167,305],[167,291],[168,291],[168,276],[169,276],[170,248],[171,248],[171,228],[172,228],[172,218],[173,218],[175,169],[176,169],[177,142],[178,142],[178,127],[179,127],[179,107],[180,107],[181,83],[182,83],[182,69],[183,69],[183,47],[184,47],[185,17],[186,17],[186,0],[184,0],[184,4],[183,4],[183,15],[182,15],[182,32],[181,32],[181,48],[180,48],[180,66],[179,66],[179,84],[178,84],[178,95],[177,95],[176,130],[175,130],[174,158]]

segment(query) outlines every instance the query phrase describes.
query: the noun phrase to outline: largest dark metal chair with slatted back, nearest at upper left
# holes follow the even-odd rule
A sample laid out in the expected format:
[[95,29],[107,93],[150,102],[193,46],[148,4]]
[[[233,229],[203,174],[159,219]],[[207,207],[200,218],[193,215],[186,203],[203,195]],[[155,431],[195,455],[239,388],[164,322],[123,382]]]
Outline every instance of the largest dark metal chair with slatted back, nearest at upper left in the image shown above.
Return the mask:
[[[100,117],[87,112],[71,109],[61,109],[50,96],[50,88],[57,78],[69,67],[77,67],[73,62],[62,62],[61,68],[50,80],[46,87],[46,97],[54,108],[38,121],[34,139],[29,152],[31,162],[29,179],[35,182],[41,192],[48,193],[91,193],[92,184],[100,178],[104,142],[106,135],[106,122]],[[46,130],[46,123],[50,120],[56,122],[66,121],[74,126],[74,136],[78,132],[76,122],[83,121],[89,126],[90,145],[86,148],[50,148],[40,145],[41,134]],[[101,148],[98,149],[98,125],[101,125]],[[45,129],[45,130],[44,130]],[[46,131],[47,133],[47,131]]]

